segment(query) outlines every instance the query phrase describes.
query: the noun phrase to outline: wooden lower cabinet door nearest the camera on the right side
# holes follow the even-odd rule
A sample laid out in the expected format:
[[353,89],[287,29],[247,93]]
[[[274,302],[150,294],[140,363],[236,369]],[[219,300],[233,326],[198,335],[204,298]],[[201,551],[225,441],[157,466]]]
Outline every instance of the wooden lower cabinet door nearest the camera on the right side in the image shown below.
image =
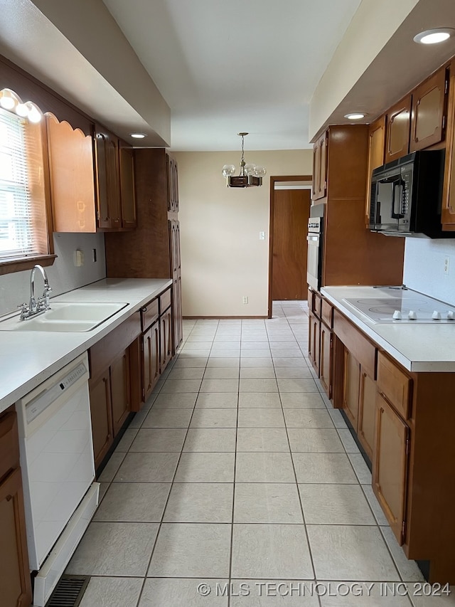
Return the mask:
[[373,449],[373,491],[400,546],[405,541],[409,428],[378,393]]

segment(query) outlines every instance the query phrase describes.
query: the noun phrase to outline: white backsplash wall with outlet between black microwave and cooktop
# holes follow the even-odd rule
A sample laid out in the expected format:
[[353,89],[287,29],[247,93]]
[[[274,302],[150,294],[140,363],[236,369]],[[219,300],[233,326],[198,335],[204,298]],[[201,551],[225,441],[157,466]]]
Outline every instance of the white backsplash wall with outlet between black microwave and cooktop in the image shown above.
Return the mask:
[[[444,257],[449,255],[449,274]],[[403,283],[407,287],[455,305],[455,238],[406,238]]]

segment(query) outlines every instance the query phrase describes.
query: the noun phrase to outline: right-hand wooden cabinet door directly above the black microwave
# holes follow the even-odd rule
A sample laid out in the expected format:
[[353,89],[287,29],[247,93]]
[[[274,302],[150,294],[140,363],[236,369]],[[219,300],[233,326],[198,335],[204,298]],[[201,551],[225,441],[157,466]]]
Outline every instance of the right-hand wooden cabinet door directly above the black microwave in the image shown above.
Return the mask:
[[448,83],[441,68],[412,91],[410,152],[439,143],[444,137]]

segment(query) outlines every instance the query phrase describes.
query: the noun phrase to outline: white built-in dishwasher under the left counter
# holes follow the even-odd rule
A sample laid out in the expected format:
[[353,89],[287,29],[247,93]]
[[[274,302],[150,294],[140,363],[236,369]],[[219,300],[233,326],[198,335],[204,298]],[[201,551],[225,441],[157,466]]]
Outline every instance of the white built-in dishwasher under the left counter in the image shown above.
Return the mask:
[[43,607],[98,503],[87,352],[16,402],[33,604]]

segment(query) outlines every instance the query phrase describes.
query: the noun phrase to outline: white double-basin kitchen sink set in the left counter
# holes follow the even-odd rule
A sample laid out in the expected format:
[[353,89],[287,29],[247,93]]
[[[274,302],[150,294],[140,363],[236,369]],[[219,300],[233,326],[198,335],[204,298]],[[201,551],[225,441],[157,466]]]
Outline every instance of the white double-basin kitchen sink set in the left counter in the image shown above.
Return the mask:
[[21,320],[18,315],[0,321],[0,331],[91,331],[126,307],[125,302],[50,302],[50,310]]

